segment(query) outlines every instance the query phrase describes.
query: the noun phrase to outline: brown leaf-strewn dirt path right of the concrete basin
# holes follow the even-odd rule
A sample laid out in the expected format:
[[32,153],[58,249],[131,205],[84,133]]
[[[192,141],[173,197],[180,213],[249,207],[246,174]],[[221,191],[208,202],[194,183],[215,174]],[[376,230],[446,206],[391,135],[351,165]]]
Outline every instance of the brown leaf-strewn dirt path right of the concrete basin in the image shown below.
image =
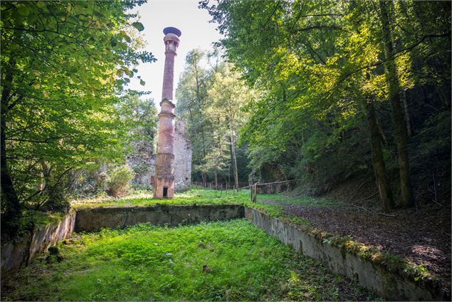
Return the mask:
[[286,212],[308,219],[312,227],[356,241],[382,251],[403,256],[414,264],[451,281],[451,209],[424,206],[397,210],[394,217],[347,207],[308,207],[287,202]]

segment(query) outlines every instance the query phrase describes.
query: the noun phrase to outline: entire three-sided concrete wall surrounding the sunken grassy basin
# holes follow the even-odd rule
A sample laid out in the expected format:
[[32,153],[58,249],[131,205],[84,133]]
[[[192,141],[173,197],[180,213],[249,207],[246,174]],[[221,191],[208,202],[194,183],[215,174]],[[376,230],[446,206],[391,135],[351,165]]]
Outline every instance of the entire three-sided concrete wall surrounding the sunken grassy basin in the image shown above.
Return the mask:
[[[415,281],[409,276],[388,271],[386,267],[327,244],[308,231],[298,229],[270,217],[268,214],[242,205],[189,205],[153,207],[122,207],[74,210],[61,222],[36,229],[14,241],[1,244],[1,273],[16,271],[28,264],[37,251],[68,238],[73,231],[98,231],[101,228],[122,228],[147,222],[157,225],[177,226],[197,222],[246,217],[249,222],[275,236],[296,251],[322,262],[327,269],[355,279],[364,288],[393,301],[450,301],[450,288],[436,286],[429,281]],[[402,274],[403,275],[403,274]]]

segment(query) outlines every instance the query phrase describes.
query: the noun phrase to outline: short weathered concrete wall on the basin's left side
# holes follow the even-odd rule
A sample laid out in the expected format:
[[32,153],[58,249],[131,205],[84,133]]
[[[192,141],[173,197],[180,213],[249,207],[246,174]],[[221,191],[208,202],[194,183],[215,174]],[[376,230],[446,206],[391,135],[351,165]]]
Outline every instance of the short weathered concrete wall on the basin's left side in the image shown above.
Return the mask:
[[1,274],[16,271],[28,261],[37,251],[47,251],[49,246],[66,239],[72,234],[75,226],[75,210],[59,222],[53,222],[45,227],[37,227],[14,240],[1,243]]

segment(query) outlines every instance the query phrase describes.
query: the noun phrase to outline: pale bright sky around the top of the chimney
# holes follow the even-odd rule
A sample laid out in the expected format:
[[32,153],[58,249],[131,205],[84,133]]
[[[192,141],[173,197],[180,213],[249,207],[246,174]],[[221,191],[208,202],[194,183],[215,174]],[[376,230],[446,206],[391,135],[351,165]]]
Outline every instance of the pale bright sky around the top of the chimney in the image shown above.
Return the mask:
[[[148,0],[137,6],[140,22],[144,25],[144,39],[147,41],[144,50],[151,52],[157,62],[141,63],[137,66],[138,75],[146,85],[140,85],[137,78],[131,79],[130,89],[152,91],[146,98],[154,98],[156,105],[162,100],[162,83],[164,68],[163,28],[174,26],[182,31],[174,62],[174,90],[179,77],[184,71],[186,54],[194,48],[210,50],[211,43],[218,41],[221,35],[216,31],[216,24],[209,23],[211,17],[205,9],[198,9],[199,0]],[[174,91],[175,93],[175,91]],[[175,98],[175,96],[174,96]],[[177,100],[175,100],[177,105]]]

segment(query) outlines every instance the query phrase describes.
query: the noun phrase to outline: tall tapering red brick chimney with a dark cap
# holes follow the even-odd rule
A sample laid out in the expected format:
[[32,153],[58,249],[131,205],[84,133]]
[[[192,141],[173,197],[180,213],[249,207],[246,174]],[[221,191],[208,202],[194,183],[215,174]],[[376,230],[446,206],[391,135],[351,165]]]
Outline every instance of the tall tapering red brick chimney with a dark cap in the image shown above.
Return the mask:
[[181,31],[174,27],[163,30],[165,44],[165,66],[163,72],[162,108],[159,113],[159,142],[157,145],[157,165],[154,181],[154,198],[174,197],[174,57],[177,56]]

